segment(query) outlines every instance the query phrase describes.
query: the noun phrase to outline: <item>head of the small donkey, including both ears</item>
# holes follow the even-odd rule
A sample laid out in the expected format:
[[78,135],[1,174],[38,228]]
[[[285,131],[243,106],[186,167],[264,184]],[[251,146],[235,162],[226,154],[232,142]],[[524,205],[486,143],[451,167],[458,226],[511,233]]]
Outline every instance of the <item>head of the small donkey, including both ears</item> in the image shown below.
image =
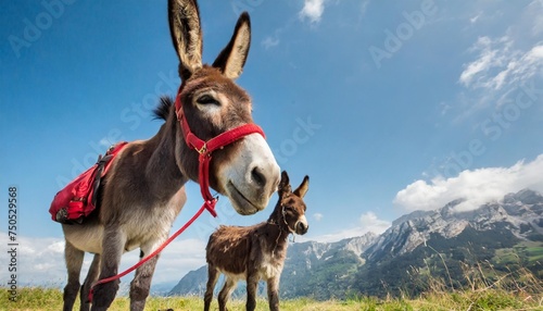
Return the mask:
[[281,173],[279,183],[279,202],[272,217],[276,217],[279,225],[285,224],[290,233],[303,235],[310,228],[305,217],[305,202],[303,198],[310,188],[310,176],[305,176],[302,184],[292,192],[289,175],[286,171]]

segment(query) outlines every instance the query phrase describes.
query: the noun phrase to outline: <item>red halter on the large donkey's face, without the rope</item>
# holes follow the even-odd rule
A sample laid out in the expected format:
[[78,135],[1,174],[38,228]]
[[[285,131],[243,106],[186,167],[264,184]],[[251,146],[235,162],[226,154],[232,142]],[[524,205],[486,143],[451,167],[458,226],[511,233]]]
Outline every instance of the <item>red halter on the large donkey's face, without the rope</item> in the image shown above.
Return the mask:
[[213,151],[220,149],[227,145],[230,145],[250,134],[258,133],[264,138],[266,138],[266,136],[264,135],[264,132],[258,125],[254,123],[248,123],[235,127],[232,129],[226,130],[211,138],[207,141],[198,138],[192,133],[192,130],[190,130],[187,117],[185,117],[182,111],[182,103],[180,97],[182,86],[184,85],[181,84],[181,86],[179,87],[179,91],[177,92],[177,97],[175,99],[175,111],[177,114],[177,120],[181,125],[181,132],[184,134],[187,146],[189,146],[189,148],[194,149],[200,154],[198,157],[198,162],[199,162],[198,182],[200,184],[200,191],[202,192],[202,198],[204,199],[203,207],[205,207],[205,209],[214,217],[216,217],[217,213],[215,212],[215,204],[217,203],[218,197],[214,198],[210,192],[210,162],[212,159]]

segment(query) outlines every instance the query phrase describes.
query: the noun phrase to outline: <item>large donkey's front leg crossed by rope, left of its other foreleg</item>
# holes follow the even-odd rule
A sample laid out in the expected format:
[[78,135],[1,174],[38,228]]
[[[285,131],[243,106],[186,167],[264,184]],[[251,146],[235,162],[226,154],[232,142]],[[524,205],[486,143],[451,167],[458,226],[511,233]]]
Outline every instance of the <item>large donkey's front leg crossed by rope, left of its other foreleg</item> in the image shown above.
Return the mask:
[[[104,228],[102,240],[102,256],[100,260],[100,279],[114,276],[118,272],[121,257],[123,256],[126,236],[115,226]],[[115,279],[94,287],[92,311],[108,310],[115,299],[121,281]]]

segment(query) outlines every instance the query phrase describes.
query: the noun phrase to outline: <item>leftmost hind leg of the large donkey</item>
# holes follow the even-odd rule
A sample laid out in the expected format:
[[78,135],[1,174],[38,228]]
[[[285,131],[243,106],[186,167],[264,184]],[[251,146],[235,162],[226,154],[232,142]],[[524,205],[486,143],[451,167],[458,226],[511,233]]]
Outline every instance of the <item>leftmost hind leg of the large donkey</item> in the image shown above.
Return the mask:
[[77,291],[79,291],[79,274],[81,272],[83,258],[85,252],[75,248],[66,240],[64,247],[64,258],[66,260],[66,269],[68,273],[67,284],[64,287],[64,307],[63,310],[70,311],[74,307]]

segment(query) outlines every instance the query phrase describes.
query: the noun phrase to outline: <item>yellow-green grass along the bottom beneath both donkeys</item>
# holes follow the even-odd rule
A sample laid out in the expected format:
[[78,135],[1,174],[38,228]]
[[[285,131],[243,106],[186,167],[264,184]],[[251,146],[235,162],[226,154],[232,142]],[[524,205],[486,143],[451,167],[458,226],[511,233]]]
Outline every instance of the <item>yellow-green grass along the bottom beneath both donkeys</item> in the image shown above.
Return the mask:
[[[539,250],[538,250],[539,251]],[[488,271],[491,271],[489,273]],[[485,272],[483,272],[485,271]],[[529,270],[495,271],[490,262],[480,262],[464,268],[467,286],[453,289],[449,282],[432,277],[428,273],[413,275],[413,284],[428,283],[428,290],[418,297],[388,297],[378,299],[353,294],[345,300],[316,301],[310,298],[286,299],[280,301],[285,311],[396,311],[396,310],[541,310],[543,311],[543,282]],[[62,310],[62,291],[53,288],[23,287],[16,293],[16,302],[10,301],[10,291],[0,287],[0,310]],[[76,301],[75,306],[78,306]],[[229,310],[244,310],[244,301],[232,300]],[[146,310],[202,310],[201,297],[150,297]],[[212,310],[217,310],[214,299]],[[75,308],[78,310],[78,308]],[[126,297],[116,298],[110,310],[129,310]],[[257,300],[256,310],[268,310],[264,298]]]

